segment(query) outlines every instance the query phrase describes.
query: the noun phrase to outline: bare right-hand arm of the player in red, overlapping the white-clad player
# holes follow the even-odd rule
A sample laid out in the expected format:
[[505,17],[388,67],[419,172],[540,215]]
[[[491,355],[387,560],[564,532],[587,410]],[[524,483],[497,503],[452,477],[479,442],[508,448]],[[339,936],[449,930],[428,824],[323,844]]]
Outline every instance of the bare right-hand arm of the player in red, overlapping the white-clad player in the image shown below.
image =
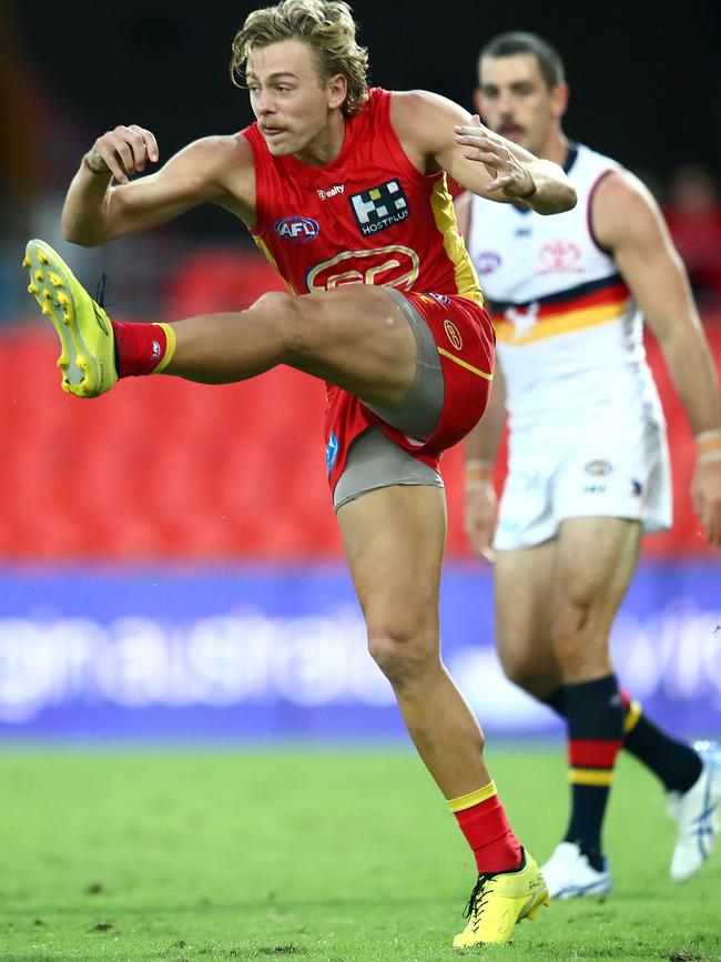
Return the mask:
[[576,205],[562,169],[487,128],[468,111],[427,91],[394,95],[390,119],[419,170],[445,170],[461,186],[501,203],[525,203],[539,214]]

